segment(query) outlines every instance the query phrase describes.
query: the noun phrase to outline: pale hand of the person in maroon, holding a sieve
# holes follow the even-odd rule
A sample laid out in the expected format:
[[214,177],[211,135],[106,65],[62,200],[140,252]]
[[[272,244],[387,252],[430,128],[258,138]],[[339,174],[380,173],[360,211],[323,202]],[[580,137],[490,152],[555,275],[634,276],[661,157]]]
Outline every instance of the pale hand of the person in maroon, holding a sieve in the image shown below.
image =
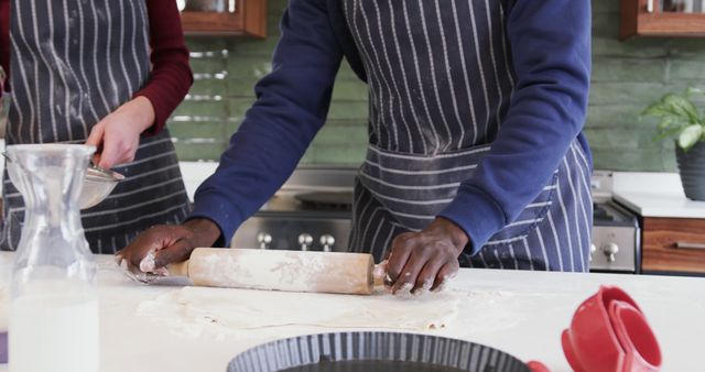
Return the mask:
[[145,97],[137,97],[105,117],[90,130],[86,144],[101,149],[94,163],[104,168],[134,160],[140,134],[154,123],[154,107]]

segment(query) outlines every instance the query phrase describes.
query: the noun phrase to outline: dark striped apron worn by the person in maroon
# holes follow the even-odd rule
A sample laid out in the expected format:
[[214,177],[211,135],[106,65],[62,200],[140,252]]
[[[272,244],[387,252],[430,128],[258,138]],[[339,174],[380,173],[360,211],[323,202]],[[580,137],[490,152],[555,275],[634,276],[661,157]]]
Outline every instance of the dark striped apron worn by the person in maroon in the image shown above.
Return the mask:
[[[12,0],[7,144],[84,143],[94,124],[142,88],[150,75],[144,0]],[[180,222],[187,196],[167,130],[142,135],[135,160],[99,205],[82,211],[96,253],[113,253],[140,231]],[[24,205],[3,175],[0,248],[18,247]]]

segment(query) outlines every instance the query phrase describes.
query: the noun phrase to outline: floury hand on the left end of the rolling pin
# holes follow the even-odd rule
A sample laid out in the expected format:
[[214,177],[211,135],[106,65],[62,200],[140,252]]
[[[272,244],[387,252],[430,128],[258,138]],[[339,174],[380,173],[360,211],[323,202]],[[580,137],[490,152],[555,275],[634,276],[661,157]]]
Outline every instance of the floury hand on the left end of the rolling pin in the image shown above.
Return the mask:
[[194,249],[212,247],[218,237],[220,229],[208,219],[193,219],[183,225],[155,226],[117,252],[116,261],[134,278],[149,282],[148,274],[166,275],[166,265],[188,260]]

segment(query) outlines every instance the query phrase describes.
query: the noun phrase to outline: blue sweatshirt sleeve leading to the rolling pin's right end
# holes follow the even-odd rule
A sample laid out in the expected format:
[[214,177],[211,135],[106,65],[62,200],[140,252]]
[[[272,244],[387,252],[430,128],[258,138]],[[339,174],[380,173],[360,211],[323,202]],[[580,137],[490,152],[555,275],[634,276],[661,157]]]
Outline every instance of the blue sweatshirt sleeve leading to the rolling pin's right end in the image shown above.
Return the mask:
[[535,199],[578,136],[590,78],[590,1],[516,0],[507,34],[518,77],[491,150],[438,215],[479,249]]

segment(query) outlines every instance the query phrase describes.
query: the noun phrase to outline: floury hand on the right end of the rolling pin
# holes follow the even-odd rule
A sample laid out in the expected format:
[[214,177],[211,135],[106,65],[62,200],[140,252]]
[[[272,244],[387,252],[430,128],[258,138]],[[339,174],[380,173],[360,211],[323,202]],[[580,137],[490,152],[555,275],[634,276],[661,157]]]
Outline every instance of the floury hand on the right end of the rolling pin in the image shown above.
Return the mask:
[[468,240],[463,229],[441,217],[421,232],[399,234],[388,258],[384,285],[392,293],[437,289],[457,273]]

